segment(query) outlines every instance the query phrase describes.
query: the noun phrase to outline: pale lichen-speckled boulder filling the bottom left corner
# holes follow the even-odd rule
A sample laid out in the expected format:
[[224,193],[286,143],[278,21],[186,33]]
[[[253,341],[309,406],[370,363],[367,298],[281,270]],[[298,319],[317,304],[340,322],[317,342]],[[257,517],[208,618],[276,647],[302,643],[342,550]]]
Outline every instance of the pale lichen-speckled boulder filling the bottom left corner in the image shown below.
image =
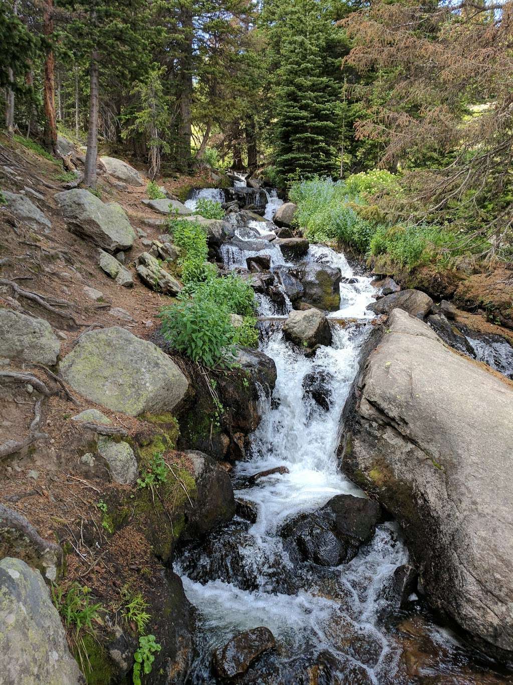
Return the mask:
[[21,559],[0,561],[0,682],[83,684],[66,633],[39,571]]

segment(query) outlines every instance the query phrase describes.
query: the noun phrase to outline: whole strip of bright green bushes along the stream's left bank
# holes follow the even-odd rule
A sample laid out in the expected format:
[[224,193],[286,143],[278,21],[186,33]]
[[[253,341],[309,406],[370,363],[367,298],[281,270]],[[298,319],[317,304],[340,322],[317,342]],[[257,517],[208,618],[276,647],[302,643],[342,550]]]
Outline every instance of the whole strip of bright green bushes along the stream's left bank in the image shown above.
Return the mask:
[[[174,349],[213,368],[233,362],[234,345],[254,345],[256,303],[252,288],[236,274],[220,277],[207,262],[205,229],[194,221],[171,221],[173,242],[180,250],[185,285],[179,302],[160,313],[161,332]],[[244,316],[238,329],[230,314]]]

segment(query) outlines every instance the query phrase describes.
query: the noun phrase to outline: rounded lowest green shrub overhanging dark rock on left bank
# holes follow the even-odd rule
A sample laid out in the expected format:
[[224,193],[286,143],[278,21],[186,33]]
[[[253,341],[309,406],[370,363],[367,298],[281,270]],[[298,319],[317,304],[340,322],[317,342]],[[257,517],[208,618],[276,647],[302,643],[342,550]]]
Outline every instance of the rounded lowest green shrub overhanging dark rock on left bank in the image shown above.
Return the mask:
[[228,310],[215,301],[194,297],[163,308],[161,332],[179,352],[209,368],[230,364],[234,329]]

